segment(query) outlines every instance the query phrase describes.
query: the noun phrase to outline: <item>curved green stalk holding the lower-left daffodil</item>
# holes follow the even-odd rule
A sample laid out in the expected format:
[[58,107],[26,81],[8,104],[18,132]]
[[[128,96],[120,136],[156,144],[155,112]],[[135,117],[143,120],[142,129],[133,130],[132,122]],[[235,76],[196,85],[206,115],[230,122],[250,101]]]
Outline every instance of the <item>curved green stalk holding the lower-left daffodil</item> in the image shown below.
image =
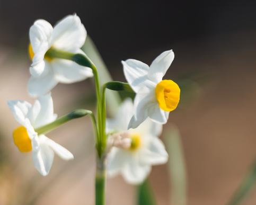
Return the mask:
[[96,121],[95,121],[95,117],[92,113],[92,111],[90,110],[84,110],[84,109],[77,109],[74,110],[68,114],[65,114],[63,116],[61,116],[60,118],[58,118],[57,120],[46,124],[45,126],[39,127],[37,129],[35,129],[35,131],[38,133],[38,135],[42,135],[42,134],[46,134],[48,132],[50,132],[51,130],[56,129],[57,127],[61,126],[61,124],[64,124],[66,122],[68,122],[69,120],[73,120],[76,118],[81,118],[84,117],[85,115],[89,114],[90,117],[92,118],[92,123],[93,126],[96,126]]

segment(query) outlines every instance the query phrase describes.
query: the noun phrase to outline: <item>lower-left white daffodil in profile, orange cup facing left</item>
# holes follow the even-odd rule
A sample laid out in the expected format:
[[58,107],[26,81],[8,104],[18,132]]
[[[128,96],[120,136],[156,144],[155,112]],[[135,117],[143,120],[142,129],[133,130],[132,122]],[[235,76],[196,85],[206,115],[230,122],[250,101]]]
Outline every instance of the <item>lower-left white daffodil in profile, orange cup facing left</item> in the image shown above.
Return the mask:
[[50,93],[40,96],[32,106],[26,101],[8,101],[20,127],[13,131],[14,144],[21,152],[32,151],[34,166],[43,176],[50,171],[54,161],[54,152],[64,160],[73,159],[74,156],[67,149],[60,146],[45,135],[37,135],[34,129],[44,126],[57,118],[54,114]]

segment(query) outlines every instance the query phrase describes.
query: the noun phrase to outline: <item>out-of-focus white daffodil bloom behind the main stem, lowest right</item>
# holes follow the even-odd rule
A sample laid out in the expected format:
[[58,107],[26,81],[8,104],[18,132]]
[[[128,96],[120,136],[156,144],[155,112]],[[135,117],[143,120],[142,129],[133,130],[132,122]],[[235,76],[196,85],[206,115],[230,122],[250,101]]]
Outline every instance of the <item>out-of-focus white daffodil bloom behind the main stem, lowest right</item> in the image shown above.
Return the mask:
[[127,130],[132,115],[133,103],[126,100],[116,118],[107,120],[107,131],[114,132],[108,137],[112,148],[107,156],[107,173],[121,174],[128,183],[138,184],[146,179],[152,165],[166,163],[168,154],[158,138],[162,124],[147,119],[138,128]]

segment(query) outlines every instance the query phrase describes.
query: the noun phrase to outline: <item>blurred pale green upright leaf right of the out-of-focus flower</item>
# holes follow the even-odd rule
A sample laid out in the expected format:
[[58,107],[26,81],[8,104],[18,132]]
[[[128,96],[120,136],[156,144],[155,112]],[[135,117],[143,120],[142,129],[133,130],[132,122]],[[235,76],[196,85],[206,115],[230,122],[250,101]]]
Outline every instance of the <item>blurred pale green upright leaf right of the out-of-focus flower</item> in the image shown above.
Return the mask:
[[171,192],[170,204],[186,205],[187,203],[187,177],[183,157],[183,148],[178,128],[172,126],[164,132],[164,140],[169,153],[169,174]]

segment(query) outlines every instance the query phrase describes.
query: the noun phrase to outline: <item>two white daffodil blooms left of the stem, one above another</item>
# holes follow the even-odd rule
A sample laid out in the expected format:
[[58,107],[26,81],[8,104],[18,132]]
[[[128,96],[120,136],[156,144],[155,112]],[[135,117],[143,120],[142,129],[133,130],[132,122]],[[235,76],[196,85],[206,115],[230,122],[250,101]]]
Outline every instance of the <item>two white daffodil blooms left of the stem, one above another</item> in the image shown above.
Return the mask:
[[54,152],[65,160],[74,158],[67,149],[45,135],[38,136],[35,131],[57,118],[50,91],[58,82],[74,83],[93,75],[91,68],[80,66],[71,60],[51,59],[46,55],[50,48],[83,52],[80,48],[85,42],[86,30],[77,15],[65,17],[54,28],[45,20],[37,20],[31,26],[29,35],[32,64],[28,91],[38,99],[33,106],[21,100],[9,101],[8,106],[21,124],[13,131],[15,145],[21,152],[32,151],[34,166],[45,176],[50,171]]

